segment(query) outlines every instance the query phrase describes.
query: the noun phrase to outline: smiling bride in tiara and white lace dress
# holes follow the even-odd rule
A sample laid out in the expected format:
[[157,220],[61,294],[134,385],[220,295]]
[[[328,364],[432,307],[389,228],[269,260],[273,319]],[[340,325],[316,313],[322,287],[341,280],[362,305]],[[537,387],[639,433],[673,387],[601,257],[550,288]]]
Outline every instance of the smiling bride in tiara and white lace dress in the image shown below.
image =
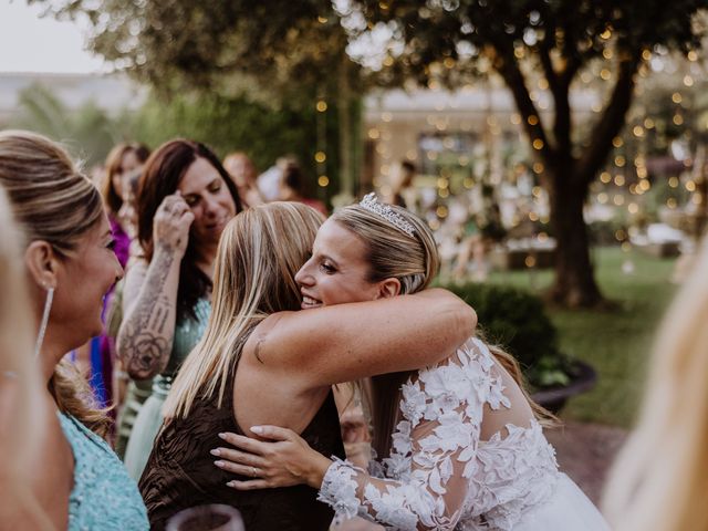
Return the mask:
[[[295,278],[303,308],[356,301],[352,285],[383,279],[396,284],[395,293],[409,293],[418,284],[410,271],[436,274],[439,259],[425,223],[372,196],[335,212],[317,232],[312,258]],[[399,244],[421,251],[410,256],[429,263],[415,268],[387,259]],[[357,260],[364,270],[352,268]],[[240,451],[219,448],[218,466],[254,477],[229,486],[306,483],[319,489],[319,499],[339,520],[360,516],[400,530],[608,529],[559,471],[539,420],[543,412],[503,351],[470,337],[446,361],[375,376],[372,387],[374,448],[387,457],[368,471],[327,459],[290,429],[253,426],[258,439],[222,437]]]

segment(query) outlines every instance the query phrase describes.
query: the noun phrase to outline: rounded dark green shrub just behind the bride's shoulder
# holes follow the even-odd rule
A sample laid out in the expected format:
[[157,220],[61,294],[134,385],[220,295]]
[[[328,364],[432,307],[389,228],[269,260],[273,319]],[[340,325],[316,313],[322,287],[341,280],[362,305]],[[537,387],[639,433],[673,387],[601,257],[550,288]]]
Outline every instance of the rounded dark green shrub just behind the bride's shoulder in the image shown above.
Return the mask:
[[556,331],[542,301],[528,292],[501,285],[447,285],[475,309],[487,341],[508,348],[534,387],[564,385],[570,365],[560,353]]

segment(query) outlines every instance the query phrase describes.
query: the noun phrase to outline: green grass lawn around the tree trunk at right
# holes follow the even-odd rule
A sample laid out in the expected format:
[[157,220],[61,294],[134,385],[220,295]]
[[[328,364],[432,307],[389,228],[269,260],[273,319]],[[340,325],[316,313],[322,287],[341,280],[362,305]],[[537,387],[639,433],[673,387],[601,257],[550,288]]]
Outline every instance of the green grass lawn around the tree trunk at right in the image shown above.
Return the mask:
[[[669,281],[675,260],[620,248],[595,249],[593,259],[603,294],[618,308],[604,312],[549,309],[561,350],[590,362],[598,373],[596,387],[570,400],[562,416],[629,427],[642,398],[653,334],[676,290]],[[623,273],[625,260],[634,262],[633,274]],[[551,281],[550,271],[497,272],[489,279],[534,293]]]

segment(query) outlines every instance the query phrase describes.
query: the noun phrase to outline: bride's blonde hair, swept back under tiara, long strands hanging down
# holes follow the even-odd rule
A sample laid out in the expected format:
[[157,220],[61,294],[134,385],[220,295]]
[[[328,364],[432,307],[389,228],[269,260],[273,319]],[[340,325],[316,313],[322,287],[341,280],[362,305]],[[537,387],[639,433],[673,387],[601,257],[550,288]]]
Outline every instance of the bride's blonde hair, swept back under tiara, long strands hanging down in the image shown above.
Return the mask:
[[[387,206],[413,226],[413,236],[361,204],[342,208],[330,219],[342,225],[365,243],[364,258],[369,264],[367,274],[369,282],[397,279],[400,282],[402,295],[421,291],[433,281],[440,268],[440,257],[433,232],[427,223],[405,208],[396,205]],[[553,415],[535,404],[525,391],[521,368],[516,358],[499,346],[488,346],[499,364],[519,384],[534,415],[543,423],[551,424],[554,419]],[[372,446],[378,456],[387,456],[391,452],[391,434],[400,398],[399,393],[392,393],[392,389],[398,389],[412,374],[412,372],[392,373],[372,378],[371,396],[365,398],[373,413]],[[367,388],[364,385],[360,387]]]

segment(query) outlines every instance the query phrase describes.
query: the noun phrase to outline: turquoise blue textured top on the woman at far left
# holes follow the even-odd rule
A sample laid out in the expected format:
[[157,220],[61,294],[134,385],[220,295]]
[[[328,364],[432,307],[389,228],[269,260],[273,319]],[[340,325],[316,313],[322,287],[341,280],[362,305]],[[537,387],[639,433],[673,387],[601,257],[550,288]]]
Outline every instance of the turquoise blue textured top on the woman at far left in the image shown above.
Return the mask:
[[59,420],[74,455],[67,530],[149,529],[137,485],[106,441],[72,416]]

